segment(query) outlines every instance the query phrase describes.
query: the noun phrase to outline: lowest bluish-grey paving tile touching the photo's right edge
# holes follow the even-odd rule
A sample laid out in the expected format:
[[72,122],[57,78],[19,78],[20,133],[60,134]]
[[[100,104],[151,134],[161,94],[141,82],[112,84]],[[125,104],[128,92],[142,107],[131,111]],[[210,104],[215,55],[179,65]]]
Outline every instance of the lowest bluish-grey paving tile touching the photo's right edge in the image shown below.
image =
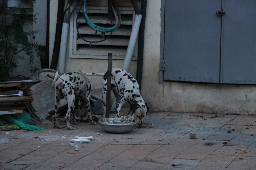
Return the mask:
[[252,145],[256,142],[256,135],[240,134],[229,141],[229,145]]

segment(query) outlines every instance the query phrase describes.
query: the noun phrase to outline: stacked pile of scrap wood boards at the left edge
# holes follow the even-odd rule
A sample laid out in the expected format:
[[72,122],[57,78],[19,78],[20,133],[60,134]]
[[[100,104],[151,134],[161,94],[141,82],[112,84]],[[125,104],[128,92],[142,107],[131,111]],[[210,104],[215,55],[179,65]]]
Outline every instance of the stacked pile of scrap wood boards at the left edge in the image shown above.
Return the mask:
[[34,94],[29,88],[38,81],[7,81],[0,82],[0,115],[23,113],[31,109]]

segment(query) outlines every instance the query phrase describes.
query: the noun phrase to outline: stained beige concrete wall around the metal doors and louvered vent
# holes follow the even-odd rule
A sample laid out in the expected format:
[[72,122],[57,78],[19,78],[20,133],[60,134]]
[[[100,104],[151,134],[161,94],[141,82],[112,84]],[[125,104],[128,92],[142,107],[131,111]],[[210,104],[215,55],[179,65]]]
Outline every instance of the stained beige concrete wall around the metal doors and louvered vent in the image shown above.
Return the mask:
[[[51,0],[51,4],[54,1],[57,2],[57,0]],[[149,104],[150,110],[254,114],[256,106],[254,105],[255,99],[253,96],[256,95],[256,87],[253,85],[158,83],[161,31],[160,8],[161,0],[148,0],[141,94]],[[53,15],[50,14],[50,16]],[[51,23],[53,23],[51,21],[52,18],[50,18]],[[53,31],[55,32],[55,28],[50,28],[51,35],[53,35]],[[113,60],[113,67],[121,68],[122,64],[122,60]],[[131,62],[129,70],[133,76],[136,75],[136,65],[136,61]],[[65,71],[78,71],[78,68],[83,68],[86,72],[103,73],[107,70],[107,60],[69,59],[67,56]],[[101,88],[101,77],[93,77],[90,80],[94,89]]]

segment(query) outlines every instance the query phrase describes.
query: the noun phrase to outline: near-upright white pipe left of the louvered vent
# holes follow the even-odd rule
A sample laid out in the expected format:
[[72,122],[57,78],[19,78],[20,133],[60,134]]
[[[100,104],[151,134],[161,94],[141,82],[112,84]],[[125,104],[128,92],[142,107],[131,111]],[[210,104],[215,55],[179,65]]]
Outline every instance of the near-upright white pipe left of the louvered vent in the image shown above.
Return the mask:
[[62,73],[64,73],[64,69],[65,69],[68,29],[69,29],[69,23],[63,23],[62,33],[61,33],[60,53],[59,53],[59,59],[58,59],[58,70]]

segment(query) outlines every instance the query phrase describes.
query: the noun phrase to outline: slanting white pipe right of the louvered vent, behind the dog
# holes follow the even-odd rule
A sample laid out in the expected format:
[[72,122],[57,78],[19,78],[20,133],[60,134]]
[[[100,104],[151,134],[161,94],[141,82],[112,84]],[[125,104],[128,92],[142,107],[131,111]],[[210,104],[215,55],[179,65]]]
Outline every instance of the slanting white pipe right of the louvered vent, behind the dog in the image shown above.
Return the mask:
[[[125,70],[125,71],[128,71],[131,60],[132,60],[133,51],[134,51],[137,36],[139,33],[139,26],[140,26],[141,18],[142,18],[141,14],[140,15],[136,14],[135,20],[133,23],[132,33],[130,36],[129,44],[127,47],[127,51],[126,51],[126,55],[125,55],[125,59],[124,59],[124,63],[123,63],[123,70]],[[116,106],[117,106],[117,100],[116,100],[116,98],[114,98],[112,101],[112,106],[111,106],[110,111],[115,111]]]

